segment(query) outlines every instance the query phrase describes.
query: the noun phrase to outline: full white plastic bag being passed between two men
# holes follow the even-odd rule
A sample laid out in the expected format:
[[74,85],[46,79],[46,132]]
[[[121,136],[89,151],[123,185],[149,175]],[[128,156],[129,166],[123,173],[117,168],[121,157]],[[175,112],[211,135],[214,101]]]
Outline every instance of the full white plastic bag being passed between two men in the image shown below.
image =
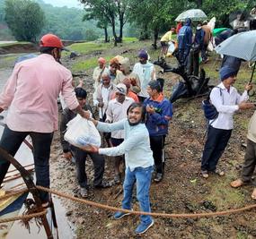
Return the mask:
[[100,147],[102,144],[101,135],[92,121],[76,115],[75,118],[67,124],[67,130],[64,139],[76,147],[86,146],[88,144]]

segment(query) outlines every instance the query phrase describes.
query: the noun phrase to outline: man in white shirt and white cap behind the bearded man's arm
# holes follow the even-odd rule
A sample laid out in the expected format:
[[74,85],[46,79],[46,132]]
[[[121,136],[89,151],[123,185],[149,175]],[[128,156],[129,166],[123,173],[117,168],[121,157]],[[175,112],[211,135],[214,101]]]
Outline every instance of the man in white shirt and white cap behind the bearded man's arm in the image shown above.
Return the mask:
[[[123,83],[119,83],[116,87],[116,98],[109,102],[109,107],[106,111],[106,123],[119,122],[127,118],[128,107],[134,102],[134,99],[126,97],[127,88]],[[113,147],[119,146],[124,141],[124,131],[111,132],[111,143]],[[120,164],[123,161],[123,156],[115,157],[115,183],[120,184],[121,172]]]

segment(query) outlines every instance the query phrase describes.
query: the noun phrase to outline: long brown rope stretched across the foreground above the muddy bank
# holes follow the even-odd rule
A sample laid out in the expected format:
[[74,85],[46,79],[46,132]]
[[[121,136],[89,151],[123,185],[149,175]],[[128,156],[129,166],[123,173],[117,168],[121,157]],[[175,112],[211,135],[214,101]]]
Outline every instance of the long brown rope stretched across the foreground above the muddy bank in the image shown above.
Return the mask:
[[63,192],[57,192],[56,190],[52,190],[49,188],[45,188],[42,186],[37,186],[39,190],[42,190],[44,192],[50,192],[52,194],[56,194],[59,197],[66,198],[68,200],[72,201],[77,201],[81,202],[99,209],[108,209],[108,210],[113,210],[113,211],[121,211],[125,213],[130,213],[130,214],[135,214],[135,215],[150,215],[154,217],[163,217],[163,218],[203,218],[203,217],[216,217],[216,216],[222,216],[222,215],[227,215],[227,214],[232,214],[232,213],[238,213],[244,210],[250,210],[250,209],[255,209],[256,204],[252,204],[250,206],[246,206],[240,209],[229,209],[229,210],[224,210],[224,211],[219,211],[219,212],[207,212],[207,213],[181,213],[181,214],[174,214],[174,213],[158,213],[158,212],[145,212],[145,211],[134,211],[134,210],[128,210],[128,209],[119,209],[116,207],[112,207],[109,205],[103,205],[101,203],[97,203],[94,201],[87,201],[84,199],[78,199],[75,198],[74,196],[70,196],[66,193]]

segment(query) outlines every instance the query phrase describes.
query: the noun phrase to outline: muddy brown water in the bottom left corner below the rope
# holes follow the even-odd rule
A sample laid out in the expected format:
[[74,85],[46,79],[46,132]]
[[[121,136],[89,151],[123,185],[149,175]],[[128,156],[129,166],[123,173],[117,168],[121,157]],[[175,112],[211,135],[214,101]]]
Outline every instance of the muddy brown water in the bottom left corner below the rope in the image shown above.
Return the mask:
[[[30,195],[29,195],[30,196]],[[66,209],[61,205],[60,200],[57,197],[53,197],[54,201],[54,207],[56,212],[56,218],[57,218],[57,231],[59,239],[72,239],[75,238],[75,227],[71,226],[71,223],[68,222],[66,218]],[[21,211],[23,211],[24,208],[22,208]],[[20,213],[21,215],[22,213]],[[45,239],[47,238],[47,235],[45,233],[45,230],[43,227],[36,226],[36,224],[31,223],[31,234],[29,231],[24,227],[21,226],[21,223],[19,221],[15,221],[13,223],[13,227],[9,231],[9,234],[6,236],[5,239],[19,239],[19,238],[26,238],[26,239]],[[55,237],[56,238],[56,237]]]

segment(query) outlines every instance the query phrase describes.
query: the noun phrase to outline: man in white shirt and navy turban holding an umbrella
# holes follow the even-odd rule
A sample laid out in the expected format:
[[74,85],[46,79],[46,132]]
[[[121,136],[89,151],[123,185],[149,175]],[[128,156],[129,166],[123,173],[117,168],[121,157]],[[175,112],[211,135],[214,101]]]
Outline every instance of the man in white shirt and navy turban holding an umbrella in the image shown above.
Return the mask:
[[[222,67],[219,71],[221,83],[210,93],[210,100],[216,107],[218,115],[209,122],[207,141],[201,158],[201,174],[207,178],[209,172],[216,171],[216,165],[221,158],[227,142],[234,128],[233,115],[239,109],[250,109],[253,103],[248,100],[248,90],[252,90],[252,84],[247,84],[241,96],[233,87],[236,80],[236,71],[230,67]],[[221,173],[223,175],[223,172]]]

